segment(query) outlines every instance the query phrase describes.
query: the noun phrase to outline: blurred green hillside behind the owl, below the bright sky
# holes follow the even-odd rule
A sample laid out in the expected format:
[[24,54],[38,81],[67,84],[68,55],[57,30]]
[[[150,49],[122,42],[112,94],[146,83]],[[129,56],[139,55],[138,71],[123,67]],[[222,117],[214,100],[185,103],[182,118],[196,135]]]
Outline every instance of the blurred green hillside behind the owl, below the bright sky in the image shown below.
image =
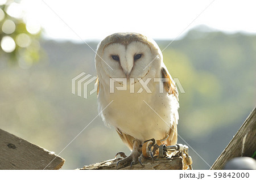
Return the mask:
[[[161,49],[170,43],[157,42]],[[98,114],[95,94],[84,99],[71,93],[76,75],[96,75],[94,53],[86,44],[40,44],[47,57],[27,70],[0,61],[0,127],[58,154]],[[255,35],[199,28],[164,50],[164,63],[185,90],[179,93],[178,143],[191,146],[194,169],[209,169],[199,155],[212,165],[254,108],[255,49]],[[98,116],[60,156],[64,169],[75,169],[119,151],[129,153]]]

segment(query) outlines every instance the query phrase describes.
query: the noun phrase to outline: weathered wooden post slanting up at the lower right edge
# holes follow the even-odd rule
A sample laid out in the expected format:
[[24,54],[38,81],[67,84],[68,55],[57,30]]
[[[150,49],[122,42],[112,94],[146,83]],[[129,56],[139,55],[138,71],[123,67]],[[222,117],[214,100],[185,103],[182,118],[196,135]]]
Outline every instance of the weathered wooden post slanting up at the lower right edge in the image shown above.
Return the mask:
[[256,107],[210,169],[223,169],[225,163],[234,157],[253,156],[253,153],[256,151],[255,135]]

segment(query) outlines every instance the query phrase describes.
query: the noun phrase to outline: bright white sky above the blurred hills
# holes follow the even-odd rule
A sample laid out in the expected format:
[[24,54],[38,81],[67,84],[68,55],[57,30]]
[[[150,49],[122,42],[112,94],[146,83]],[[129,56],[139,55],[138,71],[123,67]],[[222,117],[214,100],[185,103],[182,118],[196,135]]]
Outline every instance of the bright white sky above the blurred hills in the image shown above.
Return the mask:
[[22,1],[27,19],[40,23],[48,38],[79,41],[101,40],[115,32],[174,39],[201,24],[256,33],[255,5],[253,0]]

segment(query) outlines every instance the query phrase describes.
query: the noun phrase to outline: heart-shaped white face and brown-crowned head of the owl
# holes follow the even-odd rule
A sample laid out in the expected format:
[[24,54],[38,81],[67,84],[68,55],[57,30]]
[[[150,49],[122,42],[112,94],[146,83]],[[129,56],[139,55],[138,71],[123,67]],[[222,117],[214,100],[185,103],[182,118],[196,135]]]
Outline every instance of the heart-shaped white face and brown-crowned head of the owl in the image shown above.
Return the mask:
[[[102,60],[102,59],[103,60]],[[100,79],[154,76],[162,53],[154,40],[137,33],[115,33],[98,46],[96,69]]]

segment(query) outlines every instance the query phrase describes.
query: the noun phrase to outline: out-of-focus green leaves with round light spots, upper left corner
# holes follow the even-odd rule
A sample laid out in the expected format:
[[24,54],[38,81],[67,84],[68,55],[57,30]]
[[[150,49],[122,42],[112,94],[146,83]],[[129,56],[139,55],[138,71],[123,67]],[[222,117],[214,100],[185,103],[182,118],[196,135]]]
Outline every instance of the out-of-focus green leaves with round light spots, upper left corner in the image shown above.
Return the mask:
[[0,4],[0,60],[29,68],[43,53],[38,41],[41,29],[27,19],[19,2],[7,0]]

